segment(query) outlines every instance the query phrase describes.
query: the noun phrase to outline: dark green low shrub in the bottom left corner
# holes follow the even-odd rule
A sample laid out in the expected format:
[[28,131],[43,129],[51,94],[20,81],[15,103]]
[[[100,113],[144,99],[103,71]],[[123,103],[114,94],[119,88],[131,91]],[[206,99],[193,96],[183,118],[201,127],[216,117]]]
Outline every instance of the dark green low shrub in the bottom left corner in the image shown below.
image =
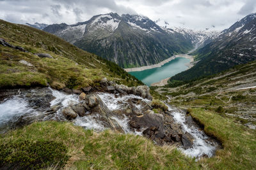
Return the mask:
[[0,169],[41,169],[65,166],[67,147],[55,141],[15,141],[0,144]]

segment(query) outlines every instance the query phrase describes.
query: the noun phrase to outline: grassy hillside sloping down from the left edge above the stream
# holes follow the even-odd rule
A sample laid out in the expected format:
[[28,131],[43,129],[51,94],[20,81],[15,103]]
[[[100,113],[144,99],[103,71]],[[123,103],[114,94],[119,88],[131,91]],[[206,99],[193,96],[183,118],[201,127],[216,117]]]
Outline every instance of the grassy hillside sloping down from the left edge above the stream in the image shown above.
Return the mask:
[[[103,77],[130,86],[142,84],[113,62],[84,52],[52,34],[3,20],[0,20],[0,27],[0,38],[28,51],[0,45],[1,88],[49,84],[56,89],[77,89],[97,85]],[[53,59],[40,58],[35,53],[49,53]]]

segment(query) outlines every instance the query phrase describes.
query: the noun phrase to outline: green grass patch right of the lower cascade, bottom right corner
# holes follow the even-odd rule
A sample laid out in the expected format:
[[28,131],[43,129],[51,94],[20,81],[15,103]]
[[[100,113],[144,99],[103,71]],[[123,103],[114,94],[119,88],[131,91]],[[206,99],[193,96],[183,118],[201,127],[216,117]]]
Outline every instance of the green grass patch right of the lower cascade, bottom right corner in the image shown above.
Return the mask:
[[201,159],[201,164],[207,164],[211,169],[255,169],[255,131],[213,111],[195,108],[190,110],[190,115],[204,125],[207,134],[218,138],[223,145],[215,157]]

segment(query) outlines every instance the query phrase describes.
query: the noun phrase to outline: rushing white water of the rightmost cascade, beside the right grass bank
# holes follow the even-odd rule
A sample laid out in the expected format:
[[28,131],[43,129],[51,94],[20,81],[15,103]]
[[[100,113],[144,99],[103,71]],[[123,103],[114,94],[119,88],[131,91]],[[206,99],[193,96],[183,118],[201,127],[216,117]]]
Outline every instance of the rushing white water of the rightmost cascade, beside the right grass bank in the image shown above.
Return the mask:
[[172,111],[172,116],[175,122],[182,126],[182,130],[184,132],[189,132],[189,134],[191,134],[194,138],[192,148],[180,148],[180,150],[182,150],[182,152],[186,153],[186,155],[189,155],[191,157],[199,158],[203,155],[212,157],[212,155],[214,155],[214,151],[216,150],[216,146],[214,146],[214,144],[210,141],[206,140],[208,139],[207,135],[204,132],[200,131],[200,129],[198,129],[197,127],[189,127],[188,125],[186,125],[185,113],[181,113],[180,111],[173,109],[168,104],[166,105],[168,106],[169,111]]

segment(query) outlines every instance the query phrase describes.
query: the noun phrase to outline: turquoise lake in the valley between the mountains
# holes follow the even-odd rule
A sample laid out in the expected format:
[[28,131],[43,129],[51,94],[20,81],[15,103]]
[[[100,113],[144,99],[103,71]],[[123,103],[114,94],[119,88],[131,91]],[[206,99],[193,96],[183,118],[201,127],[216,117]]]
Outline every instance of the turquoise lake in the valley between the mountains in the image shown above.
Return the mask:
[[141,80],[146,85],[150,86],[151,83],[156,83],[164,78],[168,78],[177,73],[185,71],[188,69],[188,66],[186,65],[189,64],[189,62],[189,59],[178,57],[170,62],[167,62],[161,67],[145,69],[143,71],[132,71],[129,73]]

